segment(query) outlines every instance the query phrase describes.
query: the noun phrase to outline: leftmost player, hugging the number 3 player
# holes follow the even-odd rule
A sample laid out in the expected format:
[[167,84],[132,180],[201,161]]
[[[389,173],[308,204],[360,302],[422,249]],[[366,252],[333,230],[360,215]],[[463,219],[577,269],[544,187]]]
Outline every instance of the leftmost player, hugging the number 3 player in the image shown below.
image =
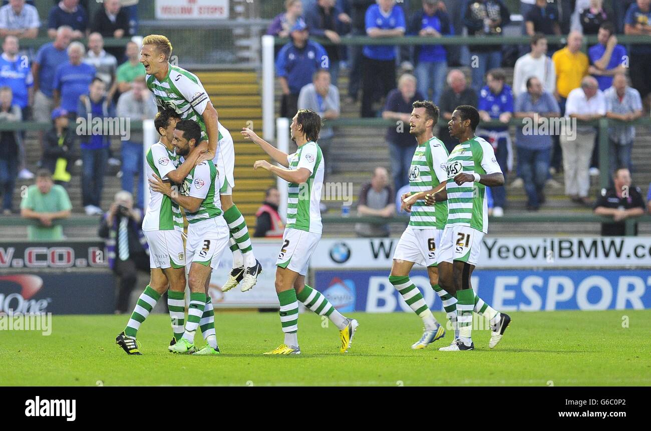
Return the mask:
[[[164,109],[156,114],[154,126],[160,139],[147,151],[147,178],[151,179],[156,175],[167,179],[169,174],[174,175],[176,172],[180,162],[172,139],[178,120],[178,114],[172,109]],[[167,291],[168,285],[167,306],[174,332],[171,344],[183,335],[186,309],[186,258],[181,237],[183,216],[178,204],[168,196],[152,190],[143,218],[143,232],[149,245],[151,280],[138,298],[126,328],[115,338],[115,343],[130,355],[141,354],[135,336],[156,302]]]

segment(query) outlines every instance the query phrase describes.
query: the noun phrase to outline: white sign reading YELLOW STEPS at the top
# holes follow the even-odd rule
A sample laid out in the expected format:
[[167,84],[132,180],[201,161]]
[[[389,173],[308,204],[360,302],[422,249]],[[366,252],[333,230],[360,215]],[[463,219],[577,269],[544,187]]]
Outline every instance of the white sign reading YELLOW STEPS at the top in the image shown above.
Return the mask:
[[229,0],[156,0],[157,20],[225,20]]

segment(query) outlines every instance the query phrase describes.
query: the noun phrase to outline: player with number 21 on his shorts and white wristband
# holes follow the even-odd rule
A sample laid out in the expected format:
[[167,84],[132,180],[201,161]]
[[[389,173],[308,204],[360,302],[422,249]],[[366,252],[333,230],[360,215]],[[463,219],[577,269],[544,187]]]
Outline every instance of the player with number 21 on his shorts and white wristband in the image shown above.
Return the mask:
[[[425,197],[427,205],[445,202],[448,218],[441,245],[437,250],[439,283],[446,291],[456,292],[456,314],[459,335],[452,344],[439,350],[473,350],[473,309],[488,317],[493,348],[504,335],[511,321],[482,301],[471,286],[470,280],[477,265],[484,234],[488,233],[488,205],[486,187],[504,184],[502,170],[495,160],[491,144],[475,136],[479,124],[477,109],[469,105],[456,107],[448,129],[459,144],[450,153],[445,169],[445,189]],[[435,204],[435,202],[437,202]]]

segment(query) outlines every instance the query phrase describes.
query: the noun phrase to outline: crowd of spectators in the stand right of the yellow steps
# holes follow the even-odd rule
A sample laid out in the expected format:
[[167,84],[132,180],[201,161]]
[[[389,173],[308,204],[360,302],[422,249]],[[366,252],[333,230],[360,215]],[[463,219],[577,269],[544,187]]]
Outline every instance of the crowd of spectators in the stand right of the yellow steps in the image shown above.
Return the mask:
[[[499,41],[516,11],[509,10],[504,0],[419,0],[412,1],[411,8],[409,2],[395,0],[287,1],[286,11],[279,14],[268,32],[292,39],[277,59],[284,94],[281,115],[290,115],[293,110],[287,107],[293,105],[285,101],[296,98],[301,86],[312,86],[308,77],[319,70],[327,70],[322,73],[329,73],[335,86],[332,91],[339,98],[337,77],[340,68],[348,68],[345,101],[361,101],[361,117],[406,122],[411,101],[422,98],[439,105],[442,120],[449,120],[458,105],[477,106],[482,122],[502,123],[480,126],[477,133],[492,144],[505,176],[514,179],[514,187],[525,189],[527,209],[536,211],[544,204],[546,186],[560,187],[552,178],[558,172],[564,173],[568,198],[592,205],[588,196],[590,176],[599,174],[599,136],[594,125],[579,122],[578,138],[572,135],[571,140],[561,131],[533,136],[516,127],[514,144],[508,126],[512,118],[523,122],[529,118],[536,125],[559,118],[585,121],[606,116],[618,120],[609,129],[609,170],[622,166],[632,170],[635,129],[622,122],[636,120],[644,110],[649,111],[651,81],[644,75],[651,64],[651,44],[626,47],[618,44],[616,34],[651,35],[651,0],[612,2],[612,10],[603,0],[520,3],[521,34],[529,35],[531,43],[513,59],[510,86],[502,66],[512,60],[506,59],[507,49]],[[305,17],[305,26],[301,17]],[[441,38],[460,34],[455,26],[469,36],[495,40],[495,44],[470,44],[469,62],[464,64],[458,55],[450,55],[456,53],[452,46],[340,44],[345,34],[380,39],[403,35]],[[297,27],[299,33],[293,31]],[[549,36],[562,34],[567,35],[564,46],[548,43]],[[585,47],[584,35],[596,35],[597,43]],[[322,46],[312,36],[327,43]],[[301,45],[302,40],[309,40],[307,47]],[[319,53],[328,59],[314,58]],[[299,64],[290,64],[283,56]],[[301,56],[311,61],[301,62]],[[469,66],[468,76],[454,66]],[[318,111],[326,120],[333,118],[324,109]],[[452,150],[456,142],[449,137],[447,127],[441,127],[439,133]],[[415,142],[408,129],[401,130],[399,125],[389,127],[385,140],[392,185],[397,190],[408,183]],[[495,216],[503,215],[508,207],[506,190],[492,190]]]

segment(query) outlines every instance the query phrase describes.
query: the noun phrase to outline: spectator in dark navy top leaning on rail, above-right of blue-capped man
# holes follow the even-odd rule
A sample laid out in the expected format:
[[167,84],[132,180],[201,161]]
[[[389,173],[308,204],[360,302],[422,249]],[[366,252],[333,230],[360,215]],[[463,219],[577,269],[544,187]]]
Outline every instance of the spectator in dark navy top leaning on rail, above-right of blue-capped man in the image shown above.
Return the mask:
[[305,24],[310,29],[311,36],[327,38],[335,44],[325,47],[327,58],[330,60],[330,78],[334,86],[337,86],[339,79],[339,63],[342,57],[339,46],[340,34],[346,33],[346,23],[340,19],[344,16],[347,17],[339,7],[335,6],[335,0],[318,0],[316,5],[305,8]]

